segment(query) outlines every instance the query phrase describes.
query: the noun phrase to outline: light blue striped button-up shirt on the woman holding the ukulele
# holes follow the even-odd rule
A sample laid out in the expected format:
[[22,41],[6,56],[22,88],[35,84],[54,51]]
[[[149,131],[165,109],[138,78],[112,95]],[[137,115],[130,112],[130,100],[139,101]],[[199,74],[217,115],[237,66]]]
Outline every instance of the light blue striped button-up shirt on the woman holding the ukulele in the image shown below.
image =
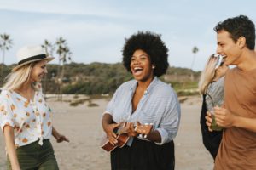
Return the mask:
[[104,113],[112,115],[113,121],[117,123],[153,123],[154,129],[161,136],[161,142],[156,144],[172,141],[177,135],[180,122],[180,105],[172,87],[154,77],[139,101],[137,110],[132,113],[131,100],[136,88],[136,80],[123,83],[113,94]]

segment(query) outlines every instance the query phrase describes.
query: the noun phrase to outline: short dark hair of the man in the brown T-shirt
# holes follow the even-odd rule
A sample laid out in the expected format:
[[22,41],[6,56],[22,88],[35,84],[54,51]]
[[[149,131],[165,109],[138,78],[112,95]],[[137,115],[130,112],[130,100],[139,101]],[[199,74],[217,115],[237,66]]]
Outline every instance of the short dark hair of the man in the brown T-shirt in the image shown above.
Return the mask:
[[246,38],[247,48],[254,49],[255,46],[255,26],[253,21],[245,15],[229,18],[223,22],[219,22],[214,27],[214,31],[228,31],[231,38],[236,42],[239,37]]

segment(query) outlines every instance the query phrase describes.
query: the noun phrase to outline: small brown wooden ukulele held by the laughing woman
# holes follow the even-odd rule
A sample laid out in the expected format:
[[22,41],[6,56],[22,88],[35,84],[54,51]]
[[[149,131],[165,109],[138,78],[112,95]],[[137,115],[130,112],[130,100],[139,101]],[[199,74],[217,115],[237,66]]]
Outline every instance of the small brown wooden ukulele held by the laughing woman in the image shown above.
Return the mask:
[[[105,133],[100,144],[103,150],[106,150],[109,152],[114,150],[116,147],[122,148],[128,142],[128,140],[130,139],[130,136],[128,136],[128,133],[126,132],[125,124],[126,123],[124,123],[123,127],[114,129],[114,133],[117,134],[117,138],[116,138],[118,141],[117,144],[114,144],[114,145],[110,144],[108,137]],[[152,128],[153,128],[152,124],[146,123],[146,124],[136,125],[134,130],[137,133],[140,133],[140,137],[146,138],[147,134],[150,133]]]

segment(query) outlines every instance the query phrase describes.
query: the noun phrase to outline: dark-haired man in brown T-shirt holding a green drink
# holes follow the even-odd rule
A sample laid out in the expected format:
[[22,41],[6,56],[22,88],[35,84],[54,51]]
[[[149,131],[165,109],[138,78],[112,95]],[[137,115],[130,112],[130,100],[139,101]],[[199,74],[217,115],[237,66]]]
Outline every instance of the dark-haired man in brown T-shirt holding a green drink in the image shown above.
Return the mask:
[[[217,53],[226,65],[236,65],[225,76],[224,106],[214,108],[218,126],[224,127],[214,169],[256,169],[255,26],[240,15],[219,22],[214,31]],[[209,112],[206,119],[212,131]]]

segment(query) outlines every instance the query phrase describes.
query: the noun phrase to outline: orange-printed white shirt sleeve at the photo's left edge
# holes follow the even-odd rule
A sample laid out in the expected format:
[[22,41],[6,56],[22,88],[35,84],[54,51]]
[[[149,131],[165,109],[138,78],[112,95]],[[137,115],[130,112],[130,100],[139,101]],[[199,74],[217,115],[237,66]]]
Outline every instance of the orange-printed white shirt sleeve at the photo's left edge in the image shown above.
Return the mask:
[[9,104],[6,99],[0,99],[0,126],[3,132],[5,126],[15,127],[14,114],[11,107],[15,107],[13,104]]

